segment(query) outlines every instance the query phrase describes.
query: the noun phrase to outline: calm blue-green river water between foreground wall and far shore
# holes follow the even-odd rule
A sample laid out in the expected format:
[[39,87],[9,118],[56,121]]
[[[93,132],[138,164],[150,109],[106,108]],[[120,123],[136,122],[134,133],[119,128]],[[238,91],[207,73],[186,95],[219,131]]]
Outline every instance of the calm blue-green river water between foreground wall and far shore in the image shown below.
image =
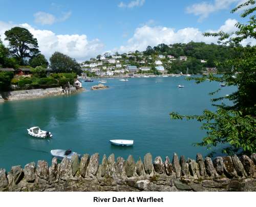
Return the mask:
[[[51,149],[72,149],[107,156],[129,154],[135,159],[151,152],[172,158],[173,152],[195,158],[205,148],[193,147],[205,132],[196,121],[171,121],[170,111],[200,114],[214,109],[208,93],[219,83],[195,84],[184,77],[130,78],[129,82],[107,79],[110,88],[88,90],[69,97],[51,97],[0,104],[0,168],[25,165],[39,159],[51,162]],[[84,83],[87,89],[93,83]],[[185,88],[177,88],[184,84]],[[230,94],[233,88],[222,88]],[[27,134],[26,128],[39,126],[51,131],[53,139],[40,140]],[[116,147],[111,139],[133,139],[133,147]]]

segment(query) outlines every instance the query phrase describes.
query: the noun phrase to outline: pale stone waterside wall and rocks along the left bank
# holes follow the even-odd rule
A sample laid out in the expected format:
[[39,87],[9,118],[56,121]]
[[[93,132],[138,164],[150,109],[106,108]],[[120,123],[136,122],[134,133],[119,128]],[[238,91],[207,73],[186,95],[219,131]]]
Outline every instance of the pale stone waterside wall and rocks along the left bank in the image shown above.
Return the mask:
[[70,88],[70,90],[64,90],[61,87],[46,88],[46,89],[30,89],[30,90],[15,90],[0,93],[0,103],[6,101],[19,101],[19,100],[29,100],[37,98],[45,98],[50,96],[63,96],[68,94],[76,94],[85,90],[84,88],[79,88],[76,90],[75,87]]

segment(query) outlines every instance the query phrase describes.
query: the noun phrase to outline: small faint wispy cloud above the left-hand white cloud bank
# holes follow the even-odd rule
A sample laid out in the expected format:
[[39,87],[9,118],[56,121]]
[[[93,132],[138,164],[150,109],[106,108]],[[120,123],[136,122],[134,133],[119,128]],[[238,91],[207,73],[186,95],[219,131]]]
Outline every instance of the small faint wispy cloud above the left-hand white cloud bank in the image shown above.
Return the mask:
[[71,16],[71,14],[72,14],[71,11],[64,12],[61,17],[57,18],[52,14],[39,11],[34,14],[34,17],[35,17],[34,21],[37,24],[41,24],[41,25],[52,25],[55,22],[67,20]]

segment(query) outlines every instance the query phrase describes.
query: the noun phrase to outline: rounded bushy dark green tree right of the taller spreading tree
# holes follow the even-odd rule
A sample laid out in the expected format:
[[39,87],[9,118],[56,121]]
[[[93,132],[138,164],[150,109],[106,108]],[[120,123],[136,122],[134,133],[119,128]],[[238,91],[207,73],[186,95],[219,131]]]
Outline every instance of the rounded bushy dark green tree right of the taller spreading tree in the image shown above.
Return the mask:
[[76,73],[81,74],[82,70],[80,65],[75,59],[72,59],[68,55],[64,55],[59,52],[55,52],[50,57],[51,68],[55,73]]

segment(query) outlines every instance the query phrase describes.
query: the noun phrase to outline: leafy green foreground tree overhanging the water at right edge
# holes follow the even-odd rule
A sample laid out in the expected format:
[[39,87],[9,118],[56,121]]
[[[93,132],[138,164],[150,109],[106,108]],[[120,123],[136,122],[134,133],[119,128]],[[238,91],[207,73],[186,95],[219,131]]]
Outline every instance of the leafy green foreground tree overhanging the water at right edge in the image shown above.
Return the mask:
[[[227,59],[223,62],[218,62],[217,66],[229,67],[232,70],[225,72],[222,77],[209,74],[202,78],[193,78],[200,83],[209,79],[210,81],[226,82],[227,86],[237,86],[237,91],[229,96],[212,99],[214,105],[217,107],[216,111],[204,110],[203,114],[198,116],[183,116],[177,112],[170,113],[171,119],[196,119],[203,122],[202,129],[206,130],[206,136],[197,146],[218,146],[220,144],[228,143],[229,147],[225,148],[223,152],[237,152],[243,149],[245,153],[252,153],[256,151],[256,47],[241,47],[239,43],[246,38],[255,39],[256,26],[254,7],[255,1],[250,0],[244,4],[239,5],[231,12],[236,12],[238,9],[244,9],[241,17],[248,17],[246,24],[237,23],[238,30],[234,33],[228,34],[224,32],[219,33],[205,33],[204,36],[219,37],[224,45],[231,45],[235,55],[233,58]],[[220,89],[211,93],[214,95]],[[231,101],[231,105],[218,104],[218,101],[227,99]]]

